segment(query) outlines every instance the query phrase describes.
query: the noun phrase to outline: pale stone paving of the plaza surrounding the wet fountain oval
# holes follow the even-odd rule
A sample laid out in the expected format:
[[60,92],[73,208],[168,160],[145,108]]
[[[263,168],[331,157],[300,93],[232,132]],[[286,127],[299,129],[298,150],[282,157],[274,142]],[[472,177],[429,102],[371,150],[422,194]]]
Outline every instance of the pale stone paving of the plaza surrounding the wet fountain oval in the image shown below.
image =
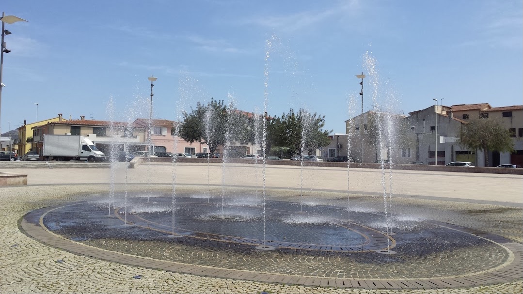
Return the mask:
[[[186,184],[197,184],[199,189],[201,189],[201,185],[208,183],[211,186],[219,184],[222,179],[222,167],[219,165],[210,167],[212,172],[209,172],[209,178],[207,178],[206,167],[196,167],[195,164],[186,164],[186,166],[180,164],[177,167],[178,191],[195,189]],[[172,167],[162,164],[155,164],[151,167],[140,166],[136,170],[128,170],[128,181],[130,182],[128,190],[130,192],[151,190],[157,193],[166,193],[172,189],[172,186],[168,184],[168,180],[172,178],[171,170]],[[226,177],[224,178],[231,185],[246,185],[245,183],[248,183],[252,186],[261,178],[260,174],[253,175],[253,170],[253,167],[248,165],[239,165],[237,169],[229,167],[225,170]],[[5,170],[0,172],[5,172]],[[17,170],[17,172],[21,171]],[[126,259],[117,253],[105,252],[105,255],[100,257],[102,259],[99,259],[63,251],[56,248],[59,247],[58,245],[56,247],[49,246],[22,233],[17,224],[19,223],[22,227],[27,224],[20,221],[21,217],[33,209],[94,199],[100,195],[108,194],[109,185],[107,183],[110,170],[86,171],[78,169],[64,172],[54,169],[43,172],[41,170],[38,172],[28,170],[27,173],[29,174],[29,186],[0,188],[0,198],[5,204],[0,214],[0,235],[2,236],[0,244],[4,249],[0,253],[0,256],[2,256],[0,258],[0,268],[2,269],[0,292],[446,293],[450,290],[448,288],[451,288],[452,292],[457,293],[518,293],[523,290],[520,274],[523,271],[520,249],[523,236],[521,231],[523,215],[520,208],[520,191],[522,191],[521,186],[523,185],[521,176],[499,177],[499,175],[496,175],[497,177],[494,177],[493,175],[478,176],[474,174],[468,177],[460,174],[459,177],[453,177],[449,173],[435,173],[428,177],[425,174],[426,172],[420,174],[420,172],[414,171],[393,174],[395,180],[393,189],[398,191],[399,195],[405,195],[405,197],[394,198],[396,207],[399,209],[398,214],[402,214],[401,207],[407,210],[408,207],[416,208],[417,213],[427,219],[441,222],[442,225],[451,228],[454,228],[452,226],[461,230],[465,228],[476,236],[503,243],[514,252],[515,262],[509,263],[508,266],[502,266],[495,272],[491,271],[481,275],[460,277],[454,273],[455,271],[459,272],[458,268],[449,271],[449,273],[452,273],[452,277],[440,278],[439,280],[391,279],[390,282],[383,283],[382,280],[365,279],[365,275],[362,275],[361,279],[358,279],[357,276],[351,279],[315,279],[285,275],[275,277],[274,275],[256,272],[234,272],[231,269],[229,269],[230,272],[223,273],[223,270],[212,267],[202,273],[201,269],[192,265],[177,265],[175,272],[168,272],[175,268],[166,267],[164,268],[165,271],[153,269],[163,268],[161,261],[146,260],[141,261],[137,266],[132,266],[129,263],[134,262],[136,257],[130,256],[129,259]],[[295,179],[300,178],[300,173],[302,173],[300,169],[292,167],[267,168],[267,185],[272,188],[285,188],[285,190],[279,190],[279,199],[294,199],[296,190],[301,189],[300,184],[294,182]],[[381,197],[374,195],[380,192],[381,187],[375,187],[368,181],[358,183],[355,179],[379,179],[381,173],[377,172],[378,174],[376,174],[376,172],[359,171],[357,169],[353,169],[351,173],[354,173],[351,177],[353,179],[353,188],[351,189],[354,193],[351,194],[353,201],[356,202],[356,199],[361,197],[366,198],[366,201],[371,204],[379,205]],[[346,170],[325,171],[308,168],[304,169],[303,174],[306,183],[303,187],[304,194],[306,198],[313,199],[311,201],[323,201],[326,204],[339,205],[346,198],[346,193],[320,193],[315,190],[321,187],[321,190],[343,191],[344,185],[345,189],[347,186]],[[122,175],[118,174],[116,178],[117,181],[120,181]],[[146,182],[147,178],[152,179],[152,184]],[[87,184],[89,179],[91,179],[91,184]],[[408,179],[417,182],[412,186],[397,187],[400,183],[408,182]],[[419,190],[417,187],[422,185],[419,180],[423,179],[426,181],[425,189]],[[475,186],[476,188],[456,195],[459,196],[457,201],[456,199],[450,200],[448,198],[452,198],[453,195],[449,195],[449,193],[441,193],[438,196],[432,190],[424,191],[429,190],[427,188],[431,187],[430,185],[433,183],[433,181],[429,182],[427,179],[446,183],[447,191],[449,189],[456,190],[460,182],[464,186]],[[505,185],[508,192],[501,195],[492,186],[477,189],[477,187],[485,184],[497,187]],[[212,188],[211,186],[207,187],[208,191],[219,192],[219,186]],[[117,190],[122,191],[121,185],[117,186]],[[445,189],[438,187],[436,190]],[[441,200],[434,200],[437,197],[441,197]],[[463,199],[468,199],[468,202]],[[54,237],[54,239],[56,238]],[[51,242],[49,240],[47,242]],[[496,245],[491,249],[495,248],[498,248],[498,246]],[[81,246],[76,250],[84,250],[83,254],[94,252],[90,249],[82,249]],[[481,260],[481,251],[475,252],[475,250],[454,253],[457,253],[457,257],[472,258],[472,264],[474,264],[473,258],[480,258],[477,260],[477,264],[481,265],[484,263]],[[191,251],[186,250],[186,252],[190,253]],[[486,255],[484,254],[484,256]],[[64,262],[56,262],[58,260]],[[420,262],[420,264],[423,264],[423,262]],[[427,267],[427,269],[429,268]],[[363,266],[356,265],[354,269],[357,271],[363,269]],[[480,268],[477,268],[477,271],[480,270]],[[470,271],[470,268],[468,271]],[[392,271],[382,271],[382,273],[386,272]],[[140,279],[133,278],[136,275],[142,277]],[[216,277],[220,275],[223,277]],[[428,277],[430,273],[417,272],[413,275]]]

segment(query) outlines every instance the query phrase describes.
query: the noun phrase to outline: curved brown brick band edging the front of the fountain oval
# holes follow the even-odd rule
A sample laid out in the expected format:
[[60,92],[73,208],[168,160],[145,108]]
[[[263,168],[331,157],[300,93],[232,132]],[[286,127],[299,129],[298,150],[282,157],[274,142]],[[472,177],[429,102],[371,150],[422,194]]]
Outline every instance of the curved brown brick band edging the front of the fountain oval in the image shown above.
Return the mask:
[[444,226],[449,229],[458,230],[465,233],[490,240],[500,246],[504,246],[513,253],[513,259],[506,266],[493,271],[480,273],[477,275],[447,277],[447,278],[426,278],[426,279],[338,279],[321,277],[300,277],[279,274],[266,274],[234,269],[223,269],[209,266],[197,266],[177,262],[155,260],[153,258],[139,257],[129,254],[112,252],[93,246],[84,245],[69,239],[65,239],[47,230],[42,224],[42,216],[47,211],[60,207],[44,207],[31,211],[19,221],[20,228],[31,238],[39,240],[47,245],[60,248],[75,254],[99,258],[110,262],[117,262],[132,266],[160,269],[184,274],[192,274],[215,278],[230,278],[252,280],[266,283],[295,284],[302,286],[323,286],[323,287],[346,287],[346,288],[366,288],[366,289],[440,289],[454,287],[471,287],[486,284],[506,283],[515,279],[523,278],[523,245],[507,240],[494,234],[484,233],[477,230],[467,229],[456,225],[449,225],[442,222],[431,221],[432,223]]

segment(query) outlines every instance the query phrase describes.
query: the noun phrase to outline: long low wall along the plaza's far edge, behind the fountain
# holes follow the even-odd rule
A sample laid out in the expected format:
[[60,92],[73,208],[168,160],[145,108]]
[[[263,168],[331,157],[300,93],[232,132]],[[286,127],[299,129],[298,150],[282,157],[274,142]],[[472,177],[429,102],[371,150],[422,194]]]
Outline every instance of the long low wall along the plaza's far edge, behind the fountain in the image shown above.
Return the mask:
[[[129,168],[134,168],[142,162],[147,162],[146,157],[135,157],[129,162]],[[172,162],[172,158],[165,157],[151,157],[151,162]],[[177,162],[194,162],[194,163],[221,163],[222,158],[178,158]],[[254,160],[246,160],[239,158],[230,158],[227,160],[229,163],[251,163],[254,164]],[[300,166],[301,162],[297,160],[266,160],[267,164],[278,165],[278,166]],[[258,164],[262,164],[258,161]],[[305,167],[336,167],[346,168],[347,162],[315,162],[315,161],[303,161]],[[379,169],[381,168],[380,163],[349,163],[351,168],[364,168],[364,169]],[[389,164],[384,164],[385,169],[389,169]],[[448,172],[473,172],[473,173],[497,173],[497,174],[523,174],[523,169],[509,169],[509,168],[485,168],[485,167],[447,167],[447,166],[430,166],[428,164],[392,164],[394,170],[420,170],[420,171],[448,171]]]

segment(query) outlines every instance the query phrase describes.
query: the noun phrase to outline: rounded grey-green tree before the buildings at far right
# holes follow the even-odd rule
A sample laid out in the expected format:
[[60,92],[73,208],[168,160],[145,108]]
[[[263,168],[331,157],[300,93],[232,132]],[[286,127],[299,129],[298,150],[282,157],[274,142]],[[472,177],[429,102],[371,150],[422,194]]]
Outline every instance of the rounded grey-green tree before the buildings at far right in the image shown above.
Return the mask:
[[465,148],[483,151],[486,167],[488,167],[488,151],[514,150],[510,131],[494,119],[477,118],[461,124],[457,142]]

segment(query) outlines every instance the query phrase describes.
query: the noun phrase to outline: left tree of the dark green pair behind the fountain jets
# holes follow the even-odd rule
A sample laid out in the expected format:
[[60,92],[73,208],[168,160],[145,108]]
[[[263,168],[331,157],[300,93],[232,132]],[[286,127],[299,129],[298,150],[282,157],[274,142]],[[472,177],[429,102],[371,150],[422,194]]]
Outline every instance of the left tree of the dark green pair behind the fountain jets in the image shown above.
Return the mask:
[[228,126],[228,113],[223,100],[211,99],[207,105],[197,103],[196,109],[184,112],[184,121],[178,136],[187,142],[204,142],[213,154],[218,146],[225,144]]

